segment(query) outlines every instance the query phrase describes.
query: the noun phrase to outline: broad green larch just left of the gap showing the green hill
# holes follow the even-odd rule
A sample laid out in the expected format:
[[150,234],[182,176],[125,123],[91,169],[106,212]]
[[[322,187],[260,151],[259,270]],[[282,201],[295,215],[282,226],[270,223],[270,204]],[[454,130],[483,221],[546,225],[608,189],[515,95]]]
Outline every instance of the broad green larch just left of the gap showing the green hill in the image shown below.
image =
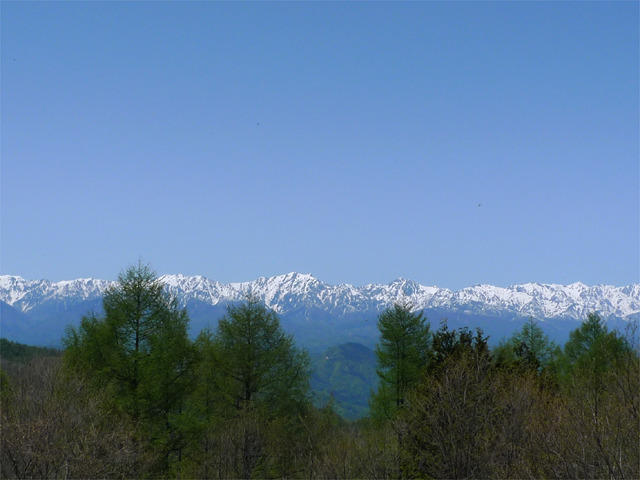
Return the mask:
[[189,397],[195,439],[185,476],[292,476],[308,448],[309,359],[272,310],[252,299],[228,308],[215,333],[195,342],[197,383]]

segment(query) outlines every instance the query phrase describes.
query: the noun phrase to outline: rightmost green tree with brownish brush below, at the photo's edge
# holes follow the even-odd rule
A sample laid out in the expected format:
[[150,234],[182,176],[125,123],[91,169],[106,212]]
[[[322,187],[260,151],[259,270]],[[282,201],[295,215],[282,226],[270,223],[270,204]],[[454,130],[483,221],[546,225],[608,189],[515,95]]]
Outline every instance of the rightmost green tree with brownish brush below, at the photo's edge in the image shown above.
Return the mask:
[[560,389],[541,412],[539,443],[554,452],[537,476],[640,477],[640,352],[637,324],[625,335],[590,314],[558,361]]

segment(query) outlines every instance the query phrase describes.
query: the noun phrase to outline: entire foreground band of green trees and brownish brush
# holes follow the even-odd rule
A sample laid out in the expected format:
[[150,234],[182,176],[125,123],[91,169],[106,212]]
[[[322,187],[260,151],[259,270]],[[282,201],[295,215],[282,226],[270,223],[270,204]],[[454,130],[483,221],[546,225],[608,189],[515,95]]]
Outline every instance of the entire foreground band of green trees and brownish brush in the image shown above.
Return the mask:
[[307,353],[256,299],[192,341],[139,264],[103,306],[61,357],[2,362],[2,478],[640,478],[633,324],[590,314],[561,348],[530,320],[492,349],[394,305],[371,413],[347,422],[313,405]]

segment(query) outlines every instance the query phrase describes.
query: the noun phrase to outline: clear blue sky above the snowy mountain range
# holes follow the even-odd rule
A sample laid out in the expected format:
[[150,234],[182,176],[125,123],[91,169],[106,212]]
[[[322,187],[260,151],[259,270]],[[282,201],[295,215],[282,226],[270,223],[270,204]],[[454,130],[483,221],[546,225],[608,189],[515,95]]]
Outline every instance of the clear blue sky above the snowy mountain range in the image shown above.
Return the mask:
[[2,2],[1,271],[639,281],[638,2]]

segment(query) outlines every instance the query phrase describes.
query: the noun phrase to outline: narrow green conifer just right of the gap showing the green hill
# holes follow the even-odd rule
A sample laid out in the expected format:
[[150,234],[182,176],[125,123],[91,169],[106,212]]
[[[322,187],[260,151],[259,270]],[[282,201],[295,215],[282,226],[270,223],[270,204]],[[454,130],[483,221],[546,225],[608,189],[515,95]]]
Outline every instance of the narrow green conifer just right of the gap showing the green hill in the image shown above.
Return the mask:
[[380,385],[372,396],[372,412],[391,418],[405,403],[407,392],[425,371],[430,354],[429,324],[422,312],[396,304],[378,318],[380,342],[376,346]]

